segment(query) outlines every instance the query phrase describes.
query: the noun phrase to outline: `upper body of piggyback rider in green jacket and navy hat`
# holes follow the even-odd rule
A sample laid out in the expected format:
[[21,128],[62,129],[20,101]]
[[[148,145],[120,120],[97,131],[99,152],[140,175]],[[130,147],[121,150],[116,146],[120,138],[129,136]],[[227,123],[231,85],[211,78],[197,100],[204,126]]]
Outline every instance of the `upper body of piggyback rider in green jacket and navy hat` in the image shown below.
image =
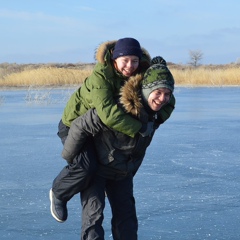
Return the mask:
[[107,126],[133,137],[142,127],[140,121],[117,107],[119,89],[130,76],[144,73],[150,66],[149,53],[134,38],[102,43],[96,51],[92,74],[69,99],[59,123],[58,135],[67,136],[71,122],[90,108],[96,108]]

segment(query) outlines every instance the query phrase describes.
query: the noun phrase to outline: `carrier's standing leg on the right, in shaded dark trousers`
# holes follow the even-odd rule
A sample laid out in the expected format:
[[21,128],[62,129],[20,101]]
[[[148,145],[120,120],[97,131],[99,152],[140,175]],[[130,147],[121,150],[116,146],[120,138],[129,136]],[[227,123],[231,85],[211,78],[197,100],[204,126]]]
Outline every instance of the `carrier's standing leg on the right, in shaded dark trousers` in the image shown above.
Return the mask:
[[137,240],[138,220],[133,196],[133,178],[111,181],[106,189],[113,215],[113,239]]

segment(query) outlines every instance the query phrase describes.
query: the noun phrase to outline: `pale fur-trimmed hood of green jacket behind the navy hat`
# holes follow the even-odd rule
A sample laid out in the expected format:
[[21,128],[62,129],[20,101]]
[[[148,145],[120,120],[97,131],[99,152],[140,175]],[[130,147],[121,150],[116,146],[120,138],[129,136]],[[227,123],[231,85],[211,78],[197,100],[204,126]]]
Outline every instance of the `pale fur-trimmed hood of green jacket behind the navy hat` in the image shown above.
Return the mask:
[[[107,54],[109,53],[109,51],[110,51],[110,53],[112,53],[116,42],[117,42],[117,40],[112,40],[112,41],[107,41],[107,42],[101,43],[95,51],[95,59],[99,63],[104,63],[106,61],[106,57],[107,57]],[[151,62],[150,54],[148,53],[148,51],[145,48],[141,47],[141,49],[143,52],[142,59],[144,59],[144,61],[148,61],[150,63]]]

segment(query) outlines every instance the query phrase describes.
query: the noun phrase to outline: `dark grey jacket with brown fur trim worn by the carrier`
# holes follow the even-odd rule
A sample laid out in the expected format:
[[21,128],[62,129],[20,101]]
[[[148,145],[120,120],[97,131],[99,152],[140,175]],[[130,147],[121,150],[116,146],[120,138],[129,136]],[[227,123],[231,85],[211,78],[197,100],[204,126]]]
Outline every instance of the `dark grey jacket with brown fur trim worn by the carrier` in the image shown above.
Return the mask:
[[[120,92],[120,104],[127,113],[140,119],[141,122],[153,121],[154,128],[157,129],[163,123],[161,117],[163,113],[146,112],[140,94],[141,81],[142,76],[136,75],[125,83]],[[165,120],[174,110],[174,97],[169,104],[171,108],[168,107],[168,112],[164,113]],[[80,153],[87,138],[93,136],[98,156],[97,174],[108,179],[120,180],[137,172],[154,132],[147,137],[143,137],[141,134],[137,134],[134,138],[129,137],[104,125],[98,117],[96,109],[91,109],[72,122],[62,157],[71,162]]]

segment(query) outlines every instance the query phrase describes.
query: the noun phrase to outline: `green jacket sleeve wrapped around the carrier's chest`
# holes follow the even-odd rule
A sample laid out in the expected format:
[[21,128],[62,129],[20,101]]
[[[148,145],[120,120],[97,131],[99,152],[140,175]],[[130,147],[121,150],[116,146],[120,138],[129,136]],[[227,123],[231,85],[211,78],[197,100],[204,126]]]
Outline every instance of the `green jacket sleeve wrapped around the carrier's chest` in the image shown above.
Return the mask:
[[113,92],[113,87],[108,81],[98,78],[95,82],[98,82],[98,85],[92,86],[91,96],[102,122],[116,131],[134,137],[142,127],[142,123],[117,105],[115,99],[117,93]]

